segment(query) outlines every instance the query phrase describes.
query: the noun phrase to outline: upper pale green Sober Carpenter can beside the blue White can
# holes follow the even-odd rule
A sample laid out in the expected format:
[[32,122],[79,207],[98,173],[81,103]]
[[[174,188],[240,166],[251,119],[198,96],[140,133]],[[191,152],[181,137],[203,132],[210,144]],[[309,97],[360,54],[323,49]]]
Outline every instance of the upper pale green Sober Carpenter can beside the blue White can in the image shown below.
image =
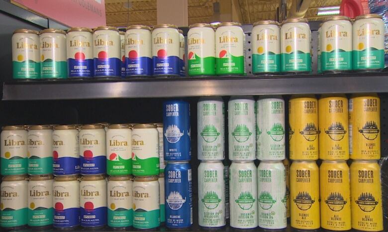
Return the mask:
[[197,103],[198,159],[225,158],[225,104],[221,97],[200,97]]

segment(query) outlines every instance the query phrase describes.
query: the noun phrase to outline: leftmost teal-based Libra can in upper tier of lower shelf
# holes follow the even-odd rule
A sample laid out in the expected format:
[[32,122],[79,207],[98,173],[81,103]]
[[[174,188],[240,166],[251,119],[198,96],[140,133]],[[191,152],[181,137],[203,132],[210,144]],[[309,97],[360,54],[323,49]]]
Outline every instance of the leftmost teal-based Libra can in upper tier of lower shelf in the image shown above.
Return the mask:
[[4,126],[0,137],[0,174],[27,174],[27,131],[23,126]]

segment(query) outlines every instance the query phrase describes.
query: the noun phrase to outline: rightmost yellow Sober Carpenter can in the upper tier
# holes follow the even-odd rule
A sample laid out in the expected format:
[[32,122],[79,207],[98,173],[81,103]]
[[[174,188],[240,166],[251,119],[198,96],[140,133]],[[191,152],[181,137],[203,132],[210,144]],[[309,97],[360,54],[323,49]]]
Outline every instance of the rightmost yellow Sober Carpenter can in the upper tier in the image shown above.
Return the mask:
[[380,159],[380,98],[377,94],[349,99],[349,153],[351,159]]

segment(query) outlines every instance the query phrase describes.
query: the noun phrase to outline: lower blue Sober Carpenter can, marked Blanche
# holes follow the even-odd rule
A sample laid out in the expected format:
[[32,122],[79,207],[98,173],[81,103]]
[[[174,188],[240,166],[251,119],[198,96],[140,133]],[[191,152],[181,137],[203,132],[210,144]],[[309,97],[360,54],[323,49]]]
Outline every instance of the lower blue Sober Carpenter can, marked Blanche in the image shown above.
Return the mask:
[[192,167],[188,161],[168,162],[165,173],[166,227],[193,225]]

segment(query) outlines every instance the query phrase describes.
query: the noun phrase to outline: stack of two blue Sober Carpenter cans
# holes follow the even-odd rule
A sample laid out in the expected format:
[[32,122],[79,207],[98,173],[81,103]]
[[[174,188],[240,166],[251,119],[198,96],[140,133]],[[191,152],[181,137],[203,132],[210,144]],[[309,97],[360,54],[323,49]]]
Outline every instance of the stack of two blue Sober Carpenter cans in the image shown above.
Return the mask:
[[190,104],[163,103],[166,227],[184,229],[193,224]]

